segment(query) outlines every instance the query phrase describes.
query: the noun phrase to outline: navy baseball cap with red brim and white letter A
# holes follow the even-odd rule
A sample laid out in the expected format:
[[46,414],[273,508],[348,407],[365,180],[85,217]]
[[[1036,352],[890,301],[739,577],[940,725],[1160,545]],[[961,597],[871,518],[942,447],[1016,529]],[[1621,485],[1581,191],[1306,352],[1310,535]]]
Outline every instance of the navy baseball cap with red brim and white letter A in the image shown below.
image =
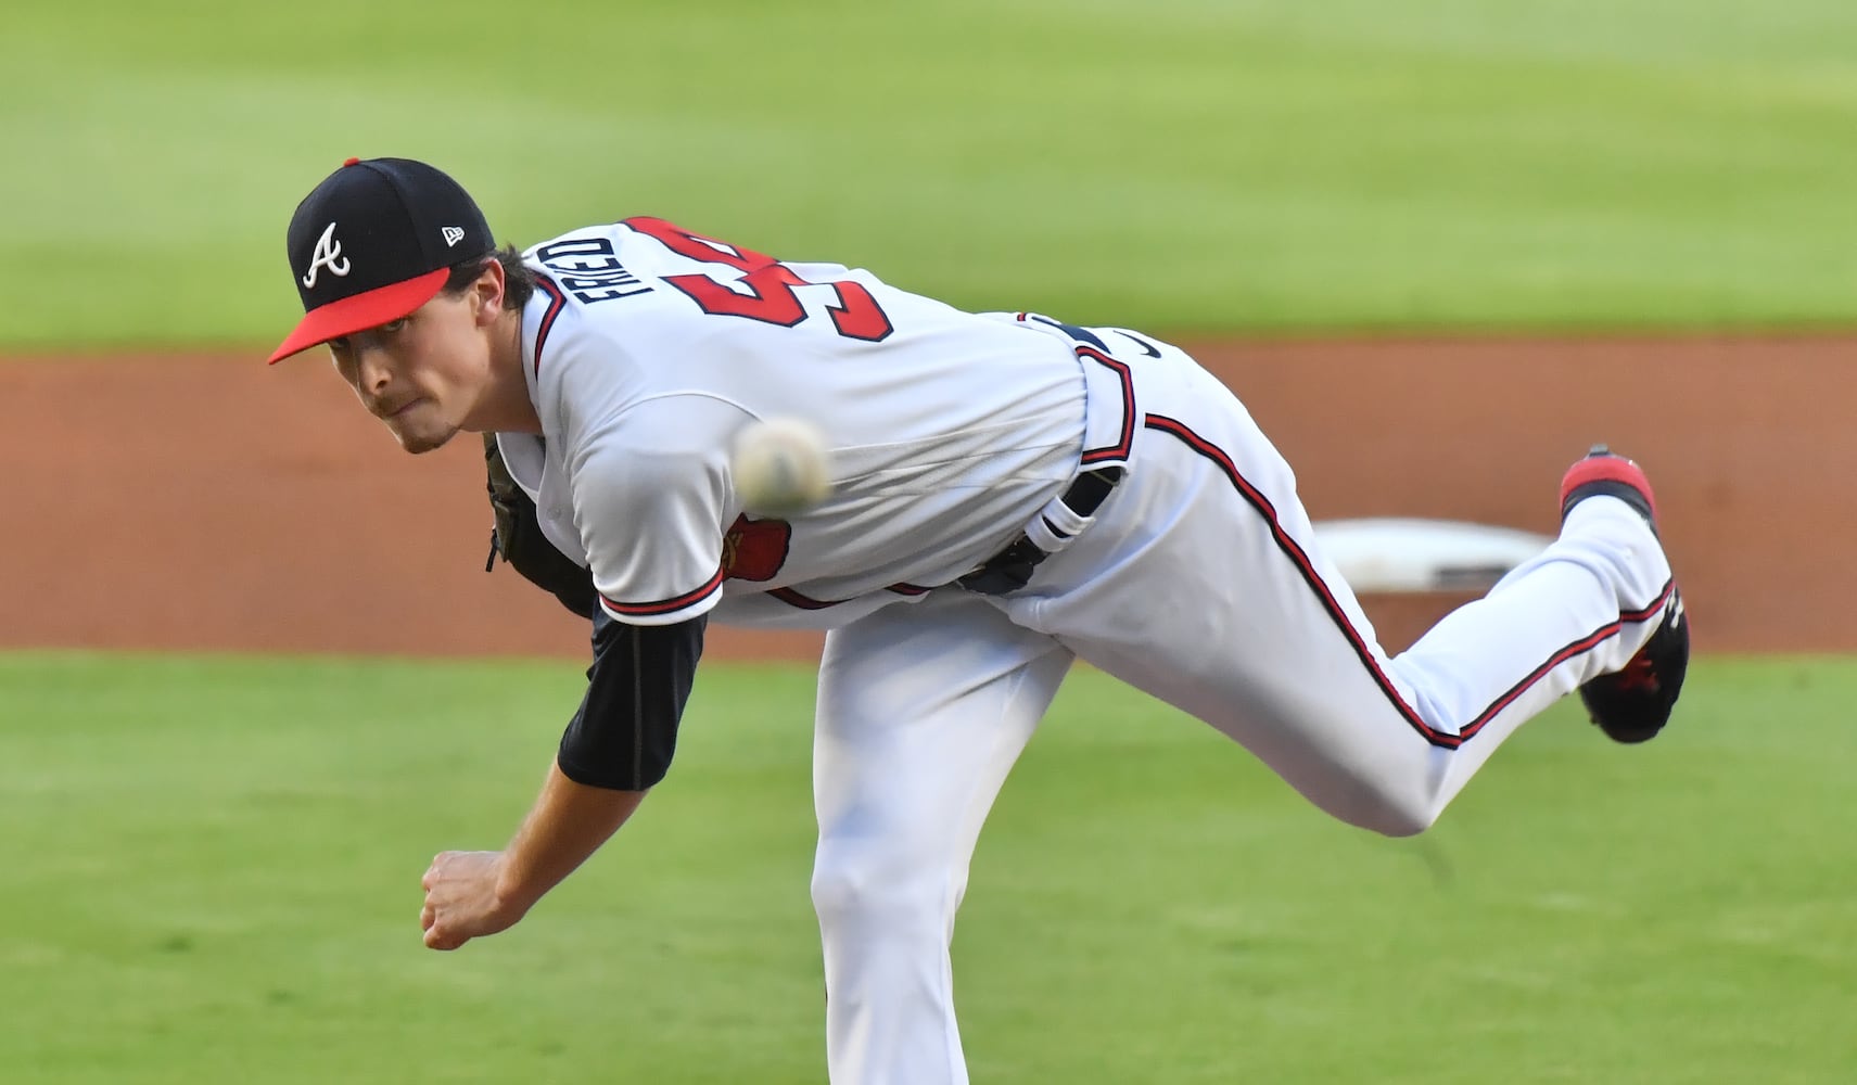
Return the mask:
[[431,301],[453,264],[496,242],[459,182],[410,158],[349,158],[290,217],[290,271],[303,321],[271,353],[399,320]]

